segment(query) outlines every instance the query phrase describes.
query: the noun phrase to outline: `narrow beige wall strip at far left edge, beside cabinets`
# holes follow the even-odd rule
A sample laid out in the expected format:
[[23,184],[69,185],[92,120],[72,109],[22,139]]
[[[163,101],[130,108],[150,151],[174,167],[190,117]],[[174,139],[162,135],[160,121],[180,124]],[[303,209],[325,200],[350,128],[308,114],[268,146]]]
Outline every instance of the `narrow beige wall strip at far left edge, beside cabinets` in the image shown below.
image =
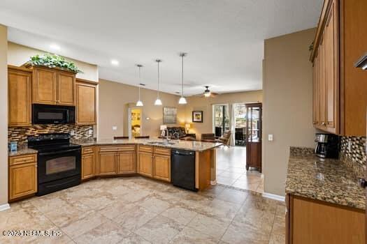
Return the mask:
[[8,49],[7,28],[0,24],[0,206],[8,203]]

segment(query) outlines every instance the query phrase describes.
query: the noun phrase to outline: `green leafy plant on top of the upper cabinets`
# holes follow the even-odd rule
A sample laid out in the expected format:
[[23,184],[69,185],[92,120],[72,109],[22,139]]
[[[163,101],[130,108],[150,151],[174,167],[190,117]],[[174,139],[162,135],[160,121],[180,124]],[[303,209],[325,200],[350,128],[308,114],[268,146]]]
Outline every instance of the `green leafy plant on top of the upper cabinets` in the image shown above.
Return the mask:
[[57,54],[36,54],[30,57],[27,61],[26,66],[44,66],[48,68],[60,68],[61,70],[70,71],[73,73],[83,73],[79,70],[75,63],[66,61],[64,57]]

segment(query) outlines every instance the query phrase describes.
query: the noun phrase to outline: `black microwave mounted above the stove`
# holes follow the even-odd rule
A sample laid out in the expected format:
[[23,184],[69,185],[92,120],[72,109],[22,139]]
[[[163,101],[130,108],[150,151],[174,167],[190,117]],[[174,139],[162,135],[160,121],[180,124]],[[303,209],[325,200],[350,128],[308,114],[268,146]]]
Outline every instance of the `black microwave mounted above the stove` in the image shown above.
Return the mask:
[[32,123],[75,123],[75,107],[59,105],[32,105]]

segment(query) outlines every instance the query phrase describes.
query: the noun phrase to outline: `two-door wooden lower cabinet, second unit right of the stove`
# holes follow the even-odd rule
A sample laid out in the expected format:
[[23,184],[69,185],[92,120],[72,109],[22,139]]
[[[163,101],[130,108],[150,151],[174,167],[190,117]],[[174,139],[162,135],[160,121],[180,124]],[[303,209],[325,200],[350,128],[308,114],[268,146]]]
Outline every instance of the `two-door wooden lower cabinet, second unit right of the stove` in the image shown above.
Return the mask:
[[99,176],[136,173],[135,146],[100,146],[96,167]]

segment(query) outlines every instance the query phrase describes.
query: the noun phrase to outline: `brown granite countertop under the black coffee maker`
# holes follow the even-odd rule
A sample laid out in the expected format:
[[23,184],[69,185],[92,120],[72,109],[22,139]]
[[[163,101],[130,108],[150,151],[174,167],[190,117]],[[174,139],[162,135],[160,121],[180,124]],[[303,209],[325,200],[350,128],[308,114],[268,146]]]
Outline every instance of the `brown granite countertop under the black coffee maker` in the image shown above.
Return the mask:
[[359,178],[342,160],[324,162],[310,148],[291,148],[285,192],[366,209],[366,192],[359,186]]

